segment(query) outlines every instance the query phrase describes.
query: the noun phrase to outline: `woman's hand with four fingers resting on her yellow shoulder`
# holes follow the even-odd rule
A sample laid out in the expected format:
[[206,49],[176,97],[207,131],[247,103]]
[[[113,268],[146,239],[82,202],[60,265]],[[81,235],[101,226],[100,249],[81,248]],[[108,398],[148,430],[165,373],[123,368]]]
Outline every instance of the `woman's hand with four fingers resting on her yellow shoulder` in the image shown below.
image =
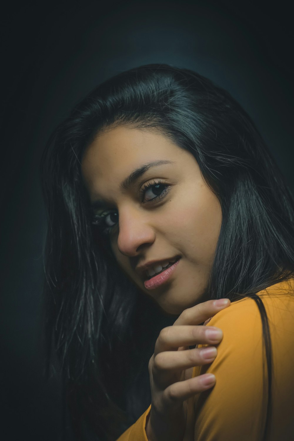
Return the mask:
[[[182,441],[186,428],[186,411],[183,402],[215,384],[212,374],[184,380],[185,371],[202,366],[216,358],[214,346],[223,338],[222,331],[199,323],[207,321],[231,304],[221,304],[224,299],[208,300],[182,312],[172,326],[160,331],[154,354],[149,360],[151,387],[151,411],[146,423],[149,441]],[[219,335],[208,335],[209,330],[218,330]],[[208,344],[209,348],[190,349],[194,344]],[[212,353],[208,353],[212,350]]]

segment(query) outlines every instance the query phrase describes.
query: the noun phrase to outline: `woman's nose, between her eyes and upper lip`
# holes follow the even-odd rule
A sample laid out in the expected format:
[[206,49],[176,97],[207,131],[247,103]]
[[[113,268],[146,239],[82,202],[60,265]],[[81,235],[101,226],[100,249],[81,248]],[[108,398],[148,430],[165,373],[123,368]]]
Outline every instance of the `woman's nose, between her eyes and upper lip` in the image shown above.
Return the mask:
[[144,245],[151,245],[154,240],[155,231],[146,213],[134,208],[119,212],[117,247],[122,254],[136,256]]

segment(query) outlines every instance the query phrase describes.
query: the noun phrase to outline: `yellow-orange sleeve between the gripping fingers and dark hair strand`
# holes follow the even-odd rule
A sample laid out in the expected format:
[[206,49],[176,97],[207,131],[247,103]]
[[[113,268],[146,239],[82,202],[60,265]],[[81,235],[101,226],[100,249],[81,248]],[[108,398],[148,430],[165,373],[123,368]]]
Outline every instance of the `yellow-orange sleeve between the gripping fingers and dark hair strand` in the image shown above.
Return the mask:
[[[194,441],[260,441],[267,408],[261,315],[253,299],[234,302],[207,323],[223,331],[216,359],[194,368],[216,384],[194,398]],[[205,345],[199,345],[199,347]]]

